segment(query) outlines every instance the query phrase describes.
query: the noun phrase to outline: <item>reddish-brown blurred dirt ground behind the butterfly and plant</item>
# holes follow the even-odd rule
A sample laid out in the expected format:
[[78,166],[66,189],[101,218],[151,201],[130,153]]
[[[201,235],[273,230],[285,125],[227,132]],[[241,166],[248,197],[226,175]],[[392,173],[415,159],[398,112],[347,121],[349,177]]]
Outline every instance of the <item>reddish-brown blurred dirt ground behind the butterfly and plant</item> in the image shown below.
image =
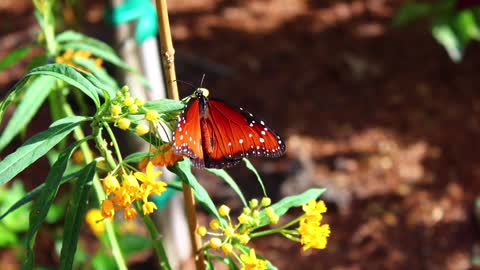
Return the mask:
[[[328,188],[326,250],[254,242],[280,269],[475,268],[480,47],[452,63],[427,22],[391,26],[401,3],[169,1],[178,78],[196,83],[205,73],[211,95],[285,138],[285,158],[255,160],[271,196]],[[1,51],[35,24],[28,6],[19,14],[18,28],[3,26]],[[23,72],[0,74],[2,92]],[[261,194],[245,168],[231,172],[250,196]],[[203,179],[217,200],[238,205]]]

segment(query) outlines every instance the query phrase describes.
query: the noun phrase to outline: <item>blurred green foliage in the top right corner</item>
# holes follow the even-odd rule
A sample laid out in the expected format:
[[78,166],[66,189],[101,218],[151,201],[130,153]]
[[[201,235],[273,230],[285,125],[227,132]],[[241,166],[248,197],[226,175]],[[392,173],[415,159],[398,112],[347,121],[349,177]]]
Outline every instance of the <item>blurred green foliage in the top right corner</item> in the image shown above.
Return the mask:
[[409,2],[393,18],[396,26],[421,19],[431,23],[433,37],[454,62],[462,60],[468,44],[480,40],[480,6],[475,1]]

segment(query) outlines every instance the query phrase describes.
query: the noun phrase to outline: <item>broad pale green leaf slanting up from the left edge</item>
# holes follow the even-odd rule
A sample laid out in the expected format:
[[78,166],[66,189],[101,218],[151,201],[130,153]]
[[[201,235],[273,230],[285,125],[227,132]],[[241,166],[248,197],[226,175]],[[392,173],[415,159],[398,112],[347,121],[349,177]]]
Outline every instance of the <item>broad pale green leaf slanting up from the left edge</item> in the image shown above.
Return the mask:
[[50,91],[55,87],[55,81],[52,77],[41,76],[33,79],[25,87],[25,97],[0,136],[0,151],[30,122]]

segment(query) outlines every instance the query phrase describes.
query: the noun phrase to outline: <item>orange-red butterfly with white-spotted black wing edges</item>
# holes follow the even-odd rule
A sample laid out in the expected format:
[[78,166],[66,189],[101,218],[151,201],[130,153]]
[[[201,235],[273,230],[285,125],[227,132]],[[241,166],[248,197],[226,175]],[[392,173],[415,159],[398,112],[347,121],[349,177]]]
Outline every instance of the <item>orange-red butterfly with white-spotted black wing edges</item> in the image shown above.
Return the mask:
[[197,168],[228,168],[248,157],[280,157],[285,144],[263,121],[243,108],[209,99],[197,88],[178,116],[173,150]]

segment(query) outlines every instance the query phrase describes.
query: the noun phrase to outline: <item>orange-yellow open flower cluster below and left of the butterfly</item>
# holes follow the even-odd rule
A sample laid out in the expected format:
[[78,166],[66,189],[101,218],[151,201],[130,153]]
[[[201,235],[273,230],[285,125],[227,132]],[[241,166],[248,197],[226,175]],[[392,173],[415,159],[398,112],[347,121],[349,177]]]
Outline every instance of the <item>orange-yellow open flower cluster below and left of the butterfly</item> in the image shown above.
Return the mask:
[[148,215],[157,209],[157,206],[148,201],[148,196],[160,195],[166,190],[167,184],[155,179],[162,174],[161,171],[155,171],[153,164],[149,162],[146,166],[146,172],[135,172],[134,174],[123,175],[123,181],[120,184],[116,176],[108,174],[102,181],[103,188],[107,193],[108,199],[102,202],[102,216],[111,218],[115,211],[124,210],[126,220],[137,217],[137,210],[132,204],[138,200],[143,202],[142,211]]

